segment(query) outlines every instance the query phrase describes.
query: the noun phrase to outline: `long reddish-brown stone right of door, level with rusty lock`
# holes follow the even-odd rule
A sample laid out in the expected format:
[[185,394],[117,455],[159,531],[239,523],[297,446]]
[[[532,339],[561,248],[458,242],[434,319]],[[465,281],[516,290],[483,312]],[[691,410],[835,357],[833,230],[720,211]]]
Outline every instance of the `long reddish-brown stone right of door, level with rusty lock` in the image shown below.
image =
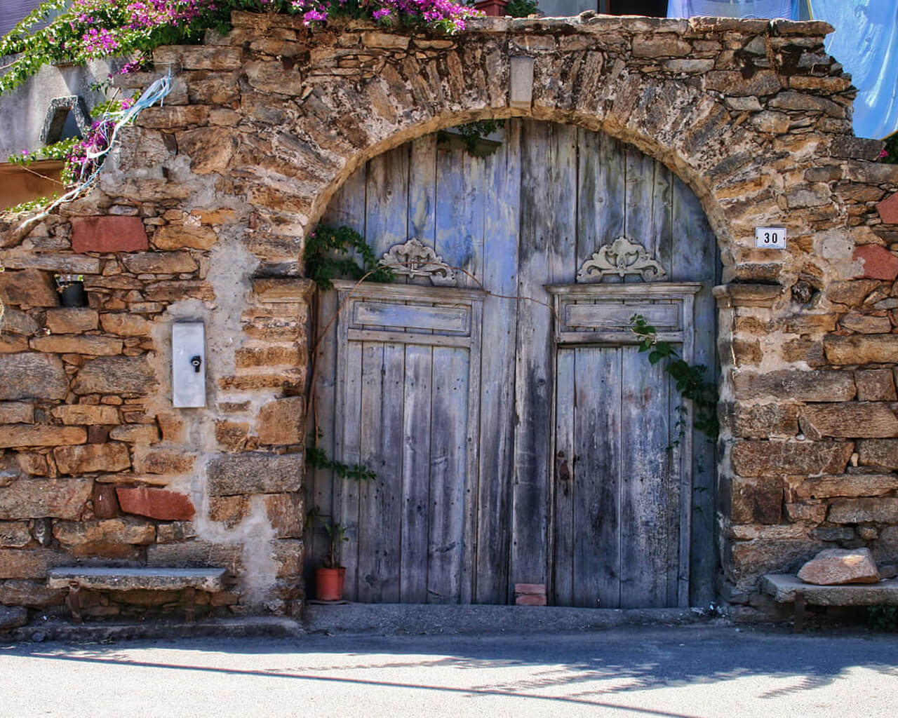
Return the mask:
[[851,442],[737,442],[733,468],[742,477],[841,474],[853,450]]

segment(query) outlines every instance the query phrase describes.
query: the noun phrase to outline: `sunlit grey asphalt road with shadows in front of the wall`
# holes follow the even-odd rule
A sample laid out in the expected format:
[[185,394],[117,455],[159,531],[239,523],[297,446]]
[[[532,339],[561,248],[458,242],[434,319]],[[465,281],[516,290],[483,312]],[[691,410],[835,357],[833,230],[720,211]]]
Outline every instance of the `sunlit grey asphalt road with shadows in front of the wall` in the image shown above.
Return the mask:
[[894,718],[898,637],[687,626],[0,642],[0,715]]

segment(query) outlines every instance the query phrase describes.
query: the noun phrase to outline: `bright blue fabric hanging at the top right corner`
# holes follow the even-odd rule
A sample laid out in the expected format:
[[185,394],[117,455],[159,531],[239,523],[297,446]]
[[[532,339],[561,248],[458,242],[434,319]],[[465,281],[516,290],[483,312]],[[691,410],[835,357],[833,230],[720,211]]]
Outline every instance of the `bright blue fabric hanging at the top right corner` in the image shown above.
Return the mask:
[[851,73],[854,134],[882,138],[898,130],[898,4],[885,0],[810,0],[814,20],[836,29],[826,51]]

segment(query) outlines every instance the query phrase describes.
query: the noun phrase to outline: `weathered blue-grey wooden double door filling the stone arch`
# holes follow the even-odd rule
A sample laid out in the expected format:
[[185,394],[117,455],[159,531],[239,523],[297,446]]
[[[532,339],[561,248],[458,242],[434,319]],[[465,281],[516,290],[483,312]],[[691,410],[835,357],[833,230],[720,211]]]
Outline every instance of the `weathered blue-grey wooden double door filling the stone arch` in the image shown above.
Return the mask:
[[[691,431],[642,314],[713,372],[716,243],[632,146],[506,122],[475,157],[427,136],[330,204],[399,273],[321,296],[307,501],[345,526],[348,600],[676,606],[713,589],[714,447]],[[337,319],[330,322],[337,315]],[[326,536],[307,537],[309,565]]]

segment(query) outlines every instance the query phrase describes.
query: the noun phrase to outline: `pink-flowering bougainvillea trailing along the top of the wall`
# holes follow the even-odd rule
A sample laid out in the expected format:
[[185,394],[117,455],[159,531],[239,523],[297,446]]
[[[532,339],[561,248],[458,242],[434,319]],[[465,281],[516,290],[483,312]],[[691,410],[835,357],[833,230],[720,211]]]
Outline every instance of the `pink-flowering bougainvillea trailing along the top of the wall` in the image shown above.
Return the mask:
[[13,57],[0,94],[52,63],[145,57],[159,45],[198,42],[208,29],[226,31],[233,10],[300,15],[309,26],[349,16],[449,32],[480,14],[453,0],[48,0],[0,40],[0,57]]

